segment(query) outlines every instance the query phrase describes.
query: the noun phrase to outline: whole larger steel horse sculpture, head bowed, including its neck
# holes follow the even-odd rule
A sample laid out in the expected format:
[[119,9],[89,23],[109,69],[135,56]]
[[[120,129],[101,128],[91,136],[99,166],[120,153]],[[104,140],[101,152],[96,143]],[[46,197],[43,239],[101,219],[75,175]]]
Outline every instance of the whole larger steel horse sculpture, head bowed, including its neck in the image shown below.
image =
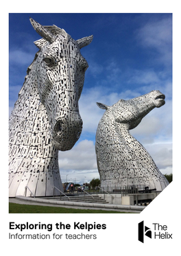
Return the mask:
[[93,40],[30,22],[42,38],[10,115],[10,197],[63,190],[58,150],[71,150],[82,132],[78,100],[88,63],[80,49]]

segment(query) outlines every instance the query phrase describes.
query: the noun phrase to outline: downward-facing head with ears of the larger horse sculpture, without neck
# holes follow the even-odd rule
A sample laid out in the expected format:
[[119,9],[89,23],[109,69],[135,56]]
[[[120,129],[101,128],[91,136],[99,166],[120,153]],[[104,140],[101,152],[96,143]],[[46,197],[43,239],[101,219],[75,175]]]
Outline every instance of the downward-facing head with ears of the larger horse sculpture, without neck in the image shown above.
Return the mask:
[[78,100],[88,63],[80,49],[91,43],[93,36],[74,40],[56,25],[43,26],[32,18],[30,22],[43,37],[34,42],[40,51],[32,69],[51,124],[52,142],[58,150],[70,150],[82,132]]

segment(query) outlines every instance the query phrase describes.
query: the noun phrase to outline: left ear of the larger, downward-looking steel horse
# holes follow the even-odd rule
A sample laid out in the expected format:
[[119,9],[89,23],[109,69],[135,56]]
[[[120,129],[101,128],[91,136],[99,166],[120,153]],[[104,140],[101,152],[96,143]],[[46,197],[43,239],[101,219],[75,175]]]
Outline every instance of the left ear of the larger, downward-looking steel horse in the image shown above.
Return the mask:
[[49,32],[49,30],[46,29],[46,27],[40,25],[38,22],[34,21],[34,19],[30,18],[29,21],[31,22],[32,26],[34,27],[34,30],[45,38],[45,40],[49,41],[50,43],[53,43],[56,39],[54,38],[53,34]]

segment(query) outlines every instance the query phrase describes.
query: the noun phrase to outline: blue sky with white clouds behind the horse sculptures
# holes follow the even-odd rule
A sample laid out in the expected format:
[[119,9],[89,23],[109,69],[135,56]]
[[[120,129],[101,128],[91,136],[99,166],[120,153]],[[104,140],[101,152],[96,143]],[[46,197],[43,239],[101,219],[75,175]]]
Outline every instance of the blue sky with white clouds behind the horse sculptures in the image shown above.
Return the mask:
[[84,125],[74,148],[59,153],[62,181],[88,182],[99,178],[95,133],[107,105],[160,90],[166,104],[155,108],[131,131],[151,154],[163,174],[172,172],[172,15],[141,14],[9,14],[10,112],[23,85],[26,70],[38,48],[40,36],[29,16],[42,25],[57,25],[75,40],[93,34],[93,42],[81,49],[88,62],[80,115]]

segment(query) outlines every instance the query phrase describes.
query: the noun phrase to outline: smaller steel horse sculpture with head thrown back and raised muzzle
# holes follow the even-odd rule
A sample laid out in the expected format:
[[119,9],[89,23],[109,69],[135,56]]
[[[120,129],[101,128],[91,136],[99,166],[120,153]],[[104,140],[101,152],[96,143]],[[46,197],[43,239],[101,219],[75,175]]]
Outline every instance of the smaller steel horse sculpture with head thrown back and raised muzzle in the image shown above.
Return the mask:
[[131,134],[152,109],[165,104],[165,95],[151,91],[132,100],[119,100],[106,109],[96,132],[95,150],[101,187],[144,185],[161,191],[168,181],[158,170],[152,156]]

